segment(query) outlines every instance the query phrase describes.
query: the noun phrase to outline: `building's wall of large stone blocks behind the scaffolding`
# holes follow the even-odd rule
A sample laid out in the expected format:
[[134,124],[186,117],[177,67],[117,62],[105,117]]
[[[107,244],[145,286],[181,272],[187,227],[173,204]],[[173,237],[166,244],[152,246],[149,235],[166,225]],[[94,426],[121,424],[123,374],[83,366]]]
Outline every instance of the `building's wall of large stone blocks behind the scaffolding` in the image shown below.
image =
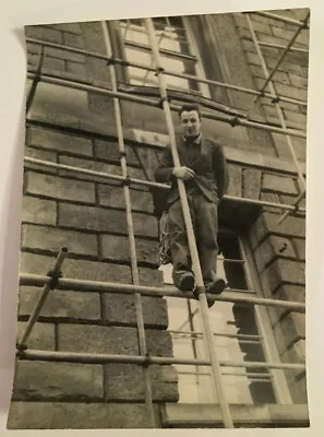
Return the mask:
[[[214,29],[215,35],[218,32],[224,43],[224,72],[227,67],[237,74],[232,81],[238,85],[262,85],[260,64],[242,15],[212,19],[214,24],[209,22],[209,29]],[[279,43],[276,38],[283,38],[284,44],[287,36],[290,37],[291,29],[281,23],[256,15],[253,15],[253,22],[261,40]],[[237,46],[235,57],[228,45],[230,38],[221,38],[225,35],[221,32],[232,33]],[[26,28],[26,36],[105,55],[101,27],[96,22],[32,26]],[[307,47],[305,37],[300,37],[298,44]],[[27,50],[28,67],[35,69],[39,46],[27,43]],[[45,54],[44,73],[96,86],[110,84],[104,60],[71,55],[58,48],[46,48]],[[266,49],[269,67],[277,57],[278,50]],[[213,72],[209,74],[215,79]],[[278,92],[305,98],[307,57],[291,55],[275,81]],[[28,80],[26,85],[27,91],[31,90],[32,81]],[[238,99],[238,95],[233,95],[232,102],[247,109],[251,98],[245,96],[244,99],[241,95]],[[274,122],[274,108],[264,103],[262,101],[253,114]],[[287,104],[284,110],[289,127],[304,127],[303,107]],[[129,175],[153,180],[154,168],[167,141],[164,116],[159,109],[140,108],[130,103],[122,104],[122,116]],[[296,200],[296,170],[283,135],[231,128],[216,121],[206,121],[205,127],[225,145],[230,196],[276,203]],[[304,161],[305,141],[293,139],[293,144],[299,158]],[[111,98],[84,90],[38,83],[26,115],[25,155],[121,175]],[[304,163],[302,168],[304,172]],[[67,246],[70,252],[62,269],[64,276],[132,283],[123,188],[118,181],[25,163],[22,201],[21,272],[46,274],[59,249]],[[143,186],[131,186],[131,201],[140,284],[163,286],[157,271],[158,222],[152,192]],[[224,211],[224,220],[231,222],[235,216],[237,224],[252,226],[251,246],[265,296],[304,302],[304,220],[289,217],[277,226],[278,210],[265,209],[260,215],[261,211],[256,209],[249,216],[243,205]],[[38,295],[39,288],[20,288],[19,334]],[[148,352],[172,356],[165,299],[143,297],[142,300]],[[281,359],[303,362],[304,316],[274,309],[268,312]],[[55,291],[43,308],[29,346],[46,351],[137,355],[134,299],[112,293]],[[155,406],[177,402],[173,368],[153,366],[151,376]],[[287,376],[295,401],[305,402],[303,375],[290,371]],[[142,381],[141,369],[135,365],[17,362],[9,427],[146,427]]]

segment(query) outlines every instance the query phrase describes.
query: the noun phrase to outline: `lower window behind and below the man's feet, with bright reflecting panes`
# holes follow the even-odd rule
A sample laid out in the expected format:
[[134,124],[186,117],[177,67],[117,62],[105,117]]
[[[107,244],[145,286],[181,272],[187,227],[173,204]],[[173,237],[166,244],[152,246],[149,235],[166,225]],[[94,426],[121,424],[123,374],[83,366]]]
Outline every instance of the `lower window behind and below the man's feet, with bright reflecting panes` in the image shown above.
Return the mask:
[[[249,246],[231,231],[219,231],[218,275],[228,283],[227,294],[257,296],[253,282]],[[171,265],[164,269],[167,286],[172,284]],[[230,290],[229,290],[230,288]],[[199,303],[169,297],[169,331],[173,355],[205,359]],[[266,310],[266,308],[263,308]],[[267,314],[259,306],[217,302],[209,309],[214,346],[225,362],[279,362]],[[211,367],[176,365],[179,373],[180,403],[217,403],[214,398]],[[223,383],[229,403],[291,403],[283,370],[262,367],[223,366]]]

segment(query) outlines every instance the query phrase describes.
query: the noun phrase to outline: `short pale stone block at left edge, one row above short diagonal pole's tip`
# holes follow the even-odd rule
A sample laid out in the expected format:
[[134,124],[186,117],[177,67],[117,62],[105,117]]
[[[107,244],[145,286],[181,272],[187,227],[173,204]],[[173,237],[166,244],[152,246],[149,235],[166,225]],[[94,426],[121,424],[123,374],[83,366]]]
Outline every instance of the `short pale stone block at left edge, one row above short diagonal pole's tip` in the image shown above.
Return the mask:
[[57,223],[57,202],[24,196],[22,222],[55,226]]

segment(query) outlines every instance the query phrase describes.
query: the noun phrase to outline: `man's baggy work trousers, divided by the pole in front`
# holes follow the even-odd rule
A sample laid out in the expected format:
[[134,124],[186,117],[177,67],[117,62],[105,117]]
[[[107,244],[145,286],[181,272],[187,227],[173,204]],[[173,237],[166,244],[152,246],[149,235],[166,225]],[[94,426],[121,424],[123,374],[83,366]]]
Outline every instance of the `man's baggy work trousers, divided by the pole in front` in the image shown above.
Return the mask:
[[[216,280],[218,255],[218,211],[217,202],[211,202],[197,189],[187,191],[190,215],[195,235],[197,252],[205,286]],[[172,258],[172,279],[176,286],[184,272],[192,271],[187,231],[180,199],[169,206],[169,237]]]

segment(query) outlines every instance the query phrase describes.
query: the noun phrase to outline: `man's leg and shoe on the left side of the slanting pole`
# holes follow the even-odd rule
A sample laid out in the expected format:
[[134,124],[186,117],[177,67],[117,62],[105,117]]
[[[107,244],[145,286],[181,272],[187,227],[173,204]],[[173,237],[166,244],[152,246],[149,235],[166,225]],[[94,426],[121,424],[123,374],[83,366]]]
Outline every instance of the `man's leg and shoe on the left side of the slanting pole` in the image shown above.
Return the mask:
[[[188,200],[191,203],[190,198]],[[192,220],[194,218],[193,211],[191,211],[191,217]],[[192,290],[194,279],[192,276],[191,257],[180,200],[173,202],[169,208],[169,237],[173,264],[173,283],[180,290]],[[184,277],[185,282],[181,283]]]

